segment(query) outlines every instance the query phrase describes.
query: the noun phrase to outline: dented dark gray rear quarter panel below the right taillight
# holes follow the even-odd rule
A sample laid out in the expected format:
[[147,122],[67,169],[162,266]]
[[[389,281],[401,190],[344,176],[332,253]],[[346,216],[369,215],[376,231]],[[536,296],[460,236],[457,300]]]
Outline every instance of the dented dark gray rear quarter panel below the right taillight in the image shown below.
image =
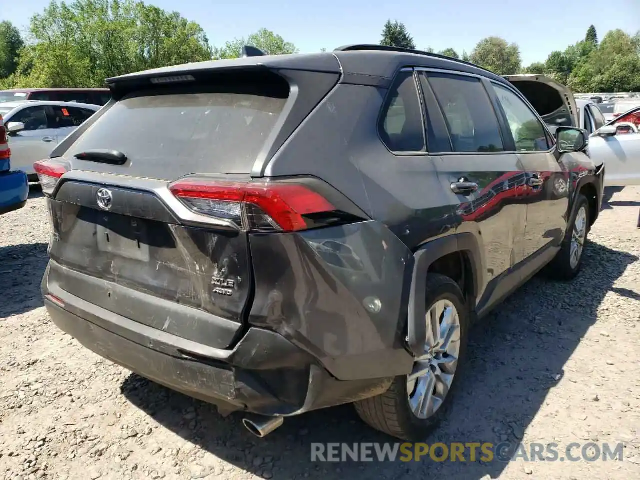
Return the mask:
[[402,339],[413,255],[380,221],[253,234],[250,248],[250,323],[284,335],[339,380],[410,372]]

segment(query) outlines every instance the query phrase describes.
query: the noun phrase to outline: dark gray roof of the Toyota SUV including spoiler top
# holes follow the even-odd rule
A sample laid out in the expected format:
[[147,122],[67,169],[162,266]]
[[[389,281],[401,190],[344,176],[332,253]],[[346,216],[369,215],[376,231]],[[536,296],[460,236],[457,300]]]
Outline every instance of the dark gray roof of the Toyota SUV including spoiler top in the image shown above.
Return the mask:
[[292,55],[264,55],[231,60],[211,60],[198,63],[186,63],[171,67],[156,68],[107,79],[109,86],[129,80],[150,79],[153,77],[197,74],[214,70],[243,70],[245,68],[270,68],[283,70],[312,70],[314,72],[342,73],[343,82],[356,83],[358,77],[368,77],[369,82],[377,78],[383,80],[380,86],[388,86],[396,72],[403,67],[438,68],[467,72],[488,77],[494,81],[508,84],[506,79],[477,67],[466,61],[456,60],[429,52],[392,49],[380,45],[353,45],[341,47],[333,52]]

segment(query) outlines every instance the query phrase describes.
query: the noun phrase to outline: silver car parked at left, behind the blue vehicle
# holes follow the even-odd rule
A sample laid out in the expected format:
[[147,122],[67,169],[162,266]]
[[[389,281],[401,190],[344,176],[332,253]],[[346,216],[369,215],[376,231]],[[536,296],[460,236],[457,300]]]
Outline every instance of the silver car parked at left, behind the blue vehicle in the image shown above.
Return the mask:
[[100,106],[76,102],[23,100],[0,103],[0,115],[9,135],[11,164],[37,181],[33,162],[51,151]]

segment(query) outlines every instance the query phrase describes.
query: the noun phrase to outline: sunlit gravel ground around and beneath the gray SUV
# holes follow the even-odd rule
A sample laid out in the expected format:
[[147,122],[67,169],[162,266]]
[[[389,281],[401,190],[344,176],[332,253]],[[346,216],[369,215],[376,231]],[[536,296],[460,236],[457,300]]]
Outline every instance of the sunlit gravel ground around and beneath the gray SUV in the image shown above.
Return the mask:
[[349,406],[258,440],[241,415],[223,419],[82,348],[42,306],[48,225],[32,193],[0,217],[0,479],[638,479],[639,209],[639,188],[614,195],[579,278],[534,278],[472,330],[450,420],[428,439],[624,442],[623,461],[312,463],[312,442],[393,440]]

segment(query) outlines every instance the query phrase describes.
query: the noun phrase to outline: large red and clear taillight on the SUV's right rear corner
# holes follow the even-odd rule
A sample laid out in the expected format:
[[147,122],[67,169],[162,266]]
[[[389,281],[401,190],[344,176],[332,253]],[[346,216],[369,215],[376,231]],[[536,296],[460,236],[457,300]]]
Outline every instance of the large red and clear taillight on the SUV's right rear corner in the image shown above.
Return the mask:
[[247,230],[296,232],[310,227],[308,216],[335,211],[324,196],[287,182],[184,179],[169,189],[191,210],[234,221]]

